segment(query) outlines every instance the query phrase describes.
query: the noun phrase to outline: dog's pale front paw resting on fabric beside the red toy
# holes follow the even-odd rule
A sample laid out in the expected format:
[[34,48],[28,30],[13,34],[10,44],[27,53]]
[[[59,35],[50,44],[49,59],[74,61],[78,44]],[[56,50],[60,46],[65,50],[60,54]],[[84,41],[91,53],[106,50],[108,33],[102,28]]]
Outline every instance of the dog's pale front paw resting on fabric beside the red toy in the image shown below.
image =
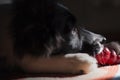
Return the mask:
[[66,54],[65,58],[69,58],[72,73],[89,73],[97,69],[97,60],[85,53]]

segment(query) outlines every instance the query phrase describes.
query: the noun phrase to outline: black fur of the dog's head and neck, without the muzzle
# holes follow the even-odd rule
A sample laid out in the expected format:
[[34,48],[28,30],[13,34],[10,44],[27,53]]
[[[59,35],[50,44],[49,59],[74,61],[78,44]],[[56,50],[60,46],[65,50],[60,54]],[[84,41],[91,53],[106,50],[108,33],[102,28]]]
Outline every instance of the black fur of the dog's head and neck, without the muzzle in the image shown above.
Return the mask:
[[19,55],[50,55],[65,42],[63,37],[75,26],[75,18],[54,0],[24,0],[16,3],[13,24]]

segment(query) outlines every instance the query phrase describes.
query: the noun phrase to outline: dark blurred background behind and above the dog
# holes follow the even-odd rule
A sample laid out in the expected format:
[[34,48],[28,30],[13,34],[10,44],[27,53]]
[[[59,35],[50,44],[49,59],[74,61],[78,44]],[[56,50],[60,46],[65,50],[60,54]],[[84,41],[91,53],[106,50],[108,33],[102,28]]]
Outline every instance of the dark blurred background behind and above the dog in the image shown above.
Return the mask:
[[[78,26],[120,41],[120,0],[60,0],[76,16]],[[0,0],[0,26],[11,21],[10,0]],[[4,33],[4,32],[3,32]]]

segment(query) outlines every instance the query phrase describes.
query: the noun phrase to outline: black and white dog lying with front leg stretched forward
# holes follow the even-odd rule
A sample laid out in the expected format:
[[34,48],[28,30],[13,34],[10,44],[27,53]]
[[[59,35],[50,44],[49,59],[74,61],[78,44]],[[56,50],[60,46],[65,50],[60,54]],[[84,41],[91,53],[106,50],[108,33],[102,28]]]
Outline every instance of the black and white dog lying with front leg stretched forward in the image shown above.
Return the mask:
[[56,0],[14,0],[13,65],[32,73],[88,73],[105,38],[76,26]]

